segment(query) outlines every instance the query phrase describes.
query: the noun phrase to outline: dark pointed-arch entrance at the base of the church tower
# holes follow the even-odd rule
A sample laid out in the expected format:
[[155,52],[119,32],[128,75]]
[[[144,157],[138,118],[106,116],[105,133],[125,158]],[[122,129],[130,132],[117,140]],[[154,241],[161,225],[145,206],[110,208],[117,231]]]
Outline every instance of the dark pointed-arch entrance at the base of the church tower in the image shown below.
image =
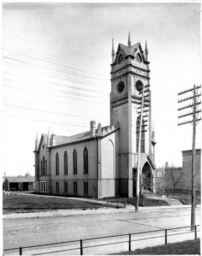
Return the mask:
[[152,170],[148,162],[145,162],[141,173],[142,189],[153,191]]

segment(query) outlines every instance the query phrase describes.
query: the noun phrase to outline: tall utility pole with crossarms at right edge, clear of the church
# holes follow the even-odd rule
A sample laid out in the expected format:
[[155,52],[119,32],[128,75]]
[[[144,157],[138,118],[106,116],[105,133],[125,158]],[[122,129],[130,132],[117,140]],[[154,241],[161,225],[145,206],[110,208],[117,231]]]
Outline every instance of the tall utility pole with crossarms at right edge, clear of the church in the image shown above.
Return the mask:
[[177,125],[184,125],[184,124],[189,124],[191,123],[193,125],[193,139],[192,139],[192,211],[191,211],[191,230],[194,230],[194,225],[195,225],[195,133],[196,133],[196,126],[199,123],[199,121],[201,120],[201,117],[198,117],[199,113],[201,113],[201,109],[199,109],[199,106],[201,104],[201,101],[199,101],[199,97],[201,96],[201,94],[199,94],[199,89],[201,88],[200,86],[195,86],[179,92],[178,95],[182,95],[182,94],[186,94],[187,92],[191,92],[191,96],[187,97],[187,98],[181,98],[180,100],[178,100],[178,103],[184,102],[184,101],[192,101],[191,103],[189,103],[189,105],[187,106],[183,106],[181,108],[179,108],[178,110],[183,110],[186,108],[191,108],[191,112],[186,113],[186,114],[182,114],[179,115],[178,118],[183,118],[183,117],[187,117],[188,115],[191,115],[193,117],[192,120],[189,121],[183,121]]

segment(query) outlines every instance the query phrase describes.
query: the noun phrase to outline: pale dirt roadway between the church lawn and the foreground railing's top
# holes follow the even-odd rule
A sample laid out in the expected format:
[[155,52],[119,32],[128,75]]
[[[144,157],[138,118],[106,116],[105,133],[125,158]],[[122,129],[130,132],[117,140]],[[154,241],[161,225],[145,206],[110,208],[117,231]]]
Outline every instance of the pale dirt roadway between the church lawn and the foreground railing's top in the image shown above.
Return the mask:
[[[4,249],[190,225],[191,208],[3,219]],[[200,224],[200,207],[196,211]]]

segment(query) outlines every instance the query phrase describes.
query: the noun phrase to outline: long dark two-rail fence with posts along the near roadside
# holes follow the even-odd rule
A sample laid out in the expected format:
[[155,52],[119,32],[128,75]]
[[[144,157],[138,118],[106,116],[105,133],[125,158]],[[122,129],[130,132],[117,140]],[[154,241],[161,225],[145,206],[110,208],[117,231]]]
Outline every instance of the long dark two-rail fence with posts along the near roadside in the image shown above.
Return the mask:
[[[141,240],[148,240],[148,239],[152,239],[152,238],[158,238],[158,237],[164,237],[164,243],[165,245],[167,245],[168,242],[168,237],[169,236],[176,236],[176,235],[182,235],[182,234],[188,234],[188,233],[193,233],[194,232],[194,239],[197,239],[197,232],[199,232],[200,230],[197,230],[197,226],[200,225],[193,225],[193,226],[182,226],[182,227],[177,227],[177,228],[170,228],[170,229],[160,229],[160,230],[150,230],[150,231],[145,231],[145,232],[135,232],[135,233],[131,233],[131,234],[122,234],[122,235],[115,235],[115,236],[103,236],[103,237],[94,237],[94,238],[86,238],[86,239],[80,239],[80,240],[74,240],[74,241],[66,241],[66,242],[58,242],[58,243],[48,243],[48,244],[44,244],[44,245],[36,245],[36,246],[20,246],[20,247],[16,247],[16,248],[10,248],[10,249],[3,249],[4,255],[6,255],[6,253],[8,251],[18,251],[19,255],[22,255],[23,253],[23,249],[28,249],[28,248],[39,248],[39,247],[45,247],[45,246],[58,246],[58,245],[64,245],[67,243],[78,243],[76,244],[74,248],[66,248],[66,249],[57,249],[56,251],[46,251],[43,253],[34,253],[31,255],[43,255],[43,254],[51,254],[51,253],[58,253],[58,252],[67,252],[67,251],[74,251],[74,250],[80,250],[80,255],[83,255],[83,250],[85,248],[92,248],[92,247],[100,247],[100,246],[108,246],[108,245],[116,245],[118,243],[128,243],[128,251],[132,250],[132,242],[134,241],[141,241]],[[191,228],[191,230],[189,231],[185,231],[185,232],[180,232],[180,233],[175,233],[175,234],[168,234],[168,231],[170,230],[180,230],[180,229],[185,229],[185,228]],[[193,229],[193,230],[192,230]],[[133,239],[133,235],[141,235],[141,234],[149,234],[149,233],[154,233],[154,232],[164,232],[163,235],[159,234],[158,236],[151,236],[151,237],[144,237],[144,238],[138,238],[138,239]],[[121,242],[110,242],[110,243],[102,243],[102,244],[96,244],[96,245],[91,245],[91,246],[84,246],[85,241],[92,241],[92,240],[102,240],[103,238],[112,238],[112,237],[123,237],[123,236],[127,236],[128,239],[126,241],[121,241]],[[13,255],[13,254],[12,254]],[[27,255],[27,254],[26,254]]]

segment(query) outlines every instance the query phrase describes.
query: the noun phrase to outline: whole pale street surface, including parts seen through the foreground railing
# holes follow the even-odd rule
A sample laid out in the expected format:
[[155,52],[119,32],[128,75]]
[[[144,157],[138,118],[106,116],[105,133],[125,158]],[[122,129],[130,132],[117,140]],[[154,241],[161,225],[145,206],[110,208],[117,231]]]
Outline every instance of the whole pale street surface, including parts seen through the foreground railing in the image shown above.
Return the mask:
[[[80,199],[79,199],[80,200]],[[165,242],[163,229],[189,226],[191,222],[191,207],[184,205],[126,208],[101,208],[98,210],[60,210],[39,213],[4,214],[3,234],[4,249],[19,246],[33,246],[44,243],[62,241],[75,241],[80,239],[127,234],[127,236],[102,238],[101,240],[87,240],[83,242],[84,254],[108,254],[128,249],[128,234],[150,231],[150,233],[132,235],[132,249],[161,245]],[[200,224],[200,206],[196,209],[196,224]],[[198,227],[197,229],[199,229]],[[158,232],[151,232],[159,230]],[[168,243],[189,240],[194,238],[194,232],[176,236],[177,232],[188,232],[190,228],[168,231]],[[151,238],[153,236],[162,236]],[[200,232],[197,233],[200,236]],[[145,238],[150,239],[145,240]],[[115,245],[103,245],[117,242]],[[74,251],[63,251],[78,248]],[[80,241],[58,246],[23,248],[24,255],[45,253],[48,255],[78,255],[80,254]],[[55,251],[55,253],[50,253]],[[17,255],[16,252],[4,252],[4,255]]]

